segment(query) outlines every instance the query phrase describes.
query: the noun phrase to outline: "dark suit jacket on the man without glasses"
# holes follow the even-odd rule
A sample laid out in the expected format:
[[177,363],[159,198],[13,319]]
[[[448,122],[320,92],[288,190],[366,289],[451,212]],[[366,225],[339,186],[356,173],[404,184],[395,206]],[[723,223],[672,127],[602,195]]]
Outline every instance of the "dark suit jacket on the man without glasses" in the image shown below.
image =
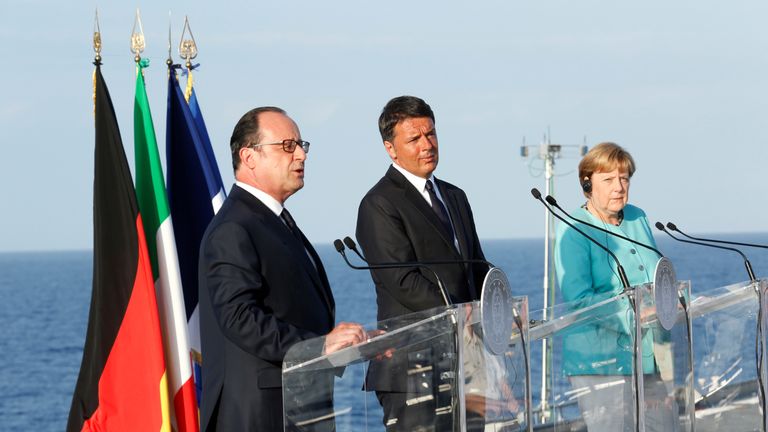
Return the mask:
[[[437,180],[451,216],[460,251],[434,210],[394,167],[365,195],[357,216],[356,236],[370,263],[408,261],[484,260],[467,196],[458,187]],[[485,264],[444,264],[433,268],[451,301],[480,298]],[[372,270],[379,321],[444,305],[434,276],[417,267]],[[405,353],[403,353],[405,354]],[[404,391],[404,358],[372,362],[370,389]],[[401,356],[403,357],[403,356]],[[385,373],[383,370],[387,369]]]

